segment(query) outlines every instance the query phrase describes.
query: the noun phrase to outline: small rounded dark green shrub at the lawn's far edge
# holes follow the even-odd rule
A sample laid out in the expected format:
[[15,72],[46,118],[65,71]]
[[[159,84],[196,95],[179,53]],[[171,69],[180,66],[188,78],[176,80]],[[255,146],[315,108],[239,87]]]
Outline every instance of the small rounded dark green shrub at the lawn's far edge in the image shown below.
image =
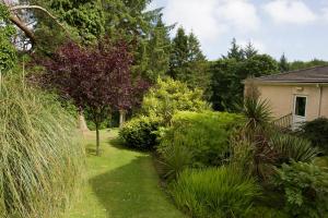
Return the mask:
[[142,150],[152,149],[156,144],[156,131],[161,120],[153,117],[138,117],[125,123],[119,132],[126,146]]

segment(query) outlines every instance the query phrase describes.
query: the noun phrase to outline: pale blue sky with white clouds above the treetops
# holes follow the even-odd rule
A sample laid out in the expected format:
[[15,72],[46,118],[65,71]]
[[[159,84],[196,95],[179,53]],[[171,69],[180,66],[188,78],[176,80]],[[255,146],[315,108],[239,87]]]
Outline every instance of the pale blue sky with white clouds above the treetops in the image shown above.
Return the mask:
[[194,32],[209,60],[234,37],[276,59],[328,60],[328,0],[153,0],[155,8],[164,8],[166,24]]

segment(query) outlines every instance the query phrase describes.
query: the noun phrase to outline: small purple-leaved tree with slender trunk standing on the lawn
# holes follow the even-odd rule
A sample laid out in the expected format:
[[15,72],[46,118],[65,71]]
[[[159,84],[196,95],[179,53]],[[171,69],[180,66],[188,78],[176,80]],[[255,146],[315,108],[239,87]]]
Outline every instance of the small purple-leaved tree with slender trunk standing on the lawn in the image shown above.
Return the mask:
[[131,56],[125,43],[99,40],[94,47],[70,43],[51,59],[43,60],[47,85],[87,110],[96,126],[96,154],[99,155],[99,126],[113,110],[128,110],[148,88],[142,80],[132,81]]

